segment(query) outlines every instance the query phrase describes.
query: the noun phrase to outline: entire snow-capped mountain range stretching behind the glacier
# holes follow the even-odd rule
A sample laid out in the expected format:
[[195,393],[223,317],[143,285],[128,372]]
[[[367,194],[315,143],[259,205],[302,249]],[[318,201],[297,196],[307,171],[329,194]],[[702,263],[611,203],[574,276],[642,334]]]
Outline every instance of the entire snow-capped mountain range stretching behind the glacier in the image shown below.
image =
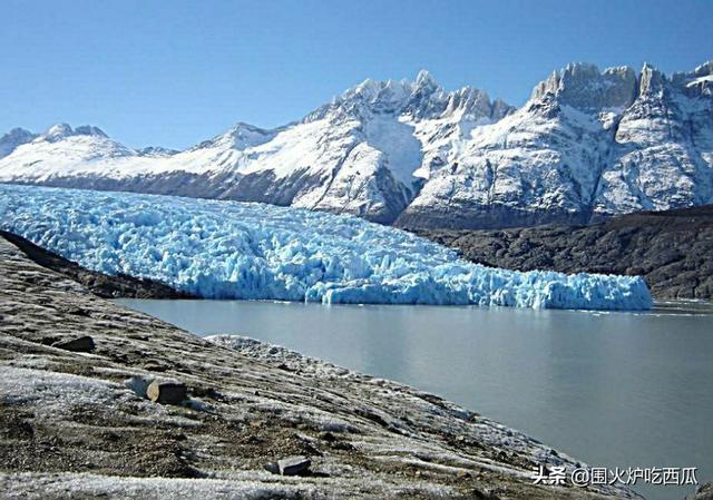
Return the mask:
[[476,88],[346,90],[301,121],[237,124],[185,151],[61,124],[0,138],[0,182],[265,202],[404,227],[587,223],[713,203],[713,62],[570,65],[519,109]]

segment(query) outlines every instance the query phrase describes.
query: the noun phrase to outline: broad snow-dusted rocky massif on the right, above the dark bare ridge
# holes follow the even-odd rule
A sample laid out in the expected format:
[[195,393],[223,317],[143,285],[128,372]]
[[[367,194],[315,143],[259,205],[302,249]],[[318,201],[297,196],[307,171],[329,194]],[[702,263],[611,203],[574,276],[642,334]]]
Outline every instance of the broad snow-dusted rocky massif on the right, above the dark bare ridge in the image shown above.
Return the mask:
[[475,128],[398,219],[406,227],[585,224],[713,203],[713,65],[570,65]]

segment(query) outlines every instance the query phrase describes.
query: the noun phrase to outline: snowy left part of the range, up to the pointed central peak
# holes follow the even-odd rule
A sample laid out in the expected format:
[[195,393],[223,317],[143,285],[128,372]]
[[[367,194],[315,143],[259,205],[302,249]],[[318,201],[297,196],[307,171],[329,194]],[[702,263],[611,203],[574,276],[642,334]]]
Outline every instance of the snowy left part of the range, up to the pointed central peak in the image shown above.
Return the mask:
[[422,71],[413,82],[367,80],[300,122],[237,124],[175,154],[57,125],[26,144],[9,141],[0,180],[265,202],[390,223],[453,140],[511,110],[473,88],[447,92]]

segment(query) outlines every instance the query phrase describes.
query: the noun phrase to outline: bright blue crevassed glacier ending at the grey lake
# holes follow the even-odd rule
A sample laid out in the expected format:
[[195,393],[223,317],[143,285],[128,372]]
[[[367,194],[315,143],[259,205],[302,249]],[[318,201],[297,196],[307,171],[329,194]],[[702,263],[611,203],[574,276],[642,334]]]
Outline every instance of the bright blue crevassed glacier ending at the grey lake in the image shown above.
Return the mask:
[[211,298],[643,310],[639,277],[465,262],[363,219],[271,205],[0,184],[0,227],[94,271]]

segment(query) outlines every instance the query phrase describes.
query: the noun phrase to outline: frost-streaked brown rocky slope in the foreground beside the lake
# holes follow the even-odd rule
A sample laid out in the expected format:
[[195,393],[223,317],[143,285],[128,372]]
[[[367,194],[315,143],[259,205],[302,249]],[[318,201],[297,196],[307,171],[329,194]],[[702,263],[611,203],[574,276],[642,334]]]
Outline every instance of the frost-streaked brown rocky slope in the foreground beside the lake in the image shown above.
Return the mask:
[[195,337],[1,238],[0,370],[3,498],[631,497],[535,486],[534,464],[576,462],[394,382]]

